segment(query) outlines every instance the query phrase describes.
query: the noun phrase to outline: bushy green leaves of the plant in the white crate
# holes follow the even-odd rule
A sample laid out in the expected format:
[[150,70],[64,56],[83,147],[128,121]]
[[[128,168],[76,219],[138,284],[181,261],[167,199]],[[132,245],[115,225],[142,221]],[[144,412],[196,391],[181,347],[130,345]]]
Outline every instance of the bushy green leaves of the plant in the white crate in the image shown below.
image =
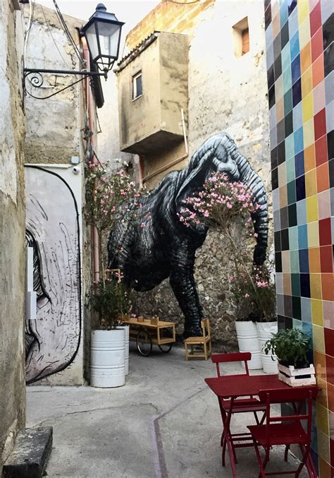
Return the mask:
[[299,328],[278,330],[278,333],[266,341],[264,352],[276,355],[280,364],[296,368],[307,366],[310,338]]

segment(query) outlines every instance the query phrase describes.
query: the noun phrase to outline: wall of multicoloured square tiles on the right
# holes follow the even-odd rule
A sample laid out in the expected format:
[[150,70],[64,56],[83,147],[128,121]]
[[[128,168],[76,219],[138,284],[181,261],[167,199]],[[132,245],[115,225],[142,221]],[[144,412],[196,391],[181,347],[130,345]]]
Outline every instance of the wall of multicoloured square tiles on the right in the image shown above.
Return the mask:
[[[312,337],[313,455],[334,477],[334,0],[265,0],[278,322]],[[250,32],[250,35],[252,33]],[[331,438],[330,438],[331,437]]]

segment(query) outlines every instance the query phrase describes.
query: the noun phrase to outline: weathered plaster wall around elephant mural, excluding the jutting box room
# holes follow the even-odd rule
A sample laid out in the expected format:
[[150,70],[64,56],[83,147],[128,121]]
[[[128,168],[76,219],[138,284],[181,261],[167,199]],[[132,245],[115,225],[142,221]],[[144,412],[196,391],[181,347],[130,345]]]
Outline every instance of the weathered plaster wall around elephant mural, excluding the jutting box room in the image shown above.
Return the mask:
[[[156,12],[151,13],[154,22]],[[167,8],[166,4],[163,8]],[[171,7],[173,10],[175,6]],[[268,100],[266,90],[266,59],[264,44],[264,5],[261,1],[251,0],[212,2],[209,8],[197,11],[192,17],[192,24],[185,25],[182,18],[171,18],[167,11],[159,17],[161,30],[187,32],[190,38],[189,49],[189,125],[188,140],[190,155],[206,138],[218,131],[226,131],[237,143],[242,155],[245,155],[252,167],[264,181],[271,205],[270,151]],[[250,49],[247,54],[235,57],[233,25],[248,18]],[[165,22],[163,23],[164,18]],[[129,42],[137,38],[140,28],[142,36],[146,33],[148,18],[137,25],[128,35]],[[140,35],[139,35],[140,36]],[[133,45],[133,42],[132,42]],[[173,52],[171,52],[173,55]],[[145,157],[145,175],[154,167],[159,169],[164,162],[173,162],[180,155],[180,150],[173,148],[163,155],[157,153]],[[171,169],[180,169],[184,161]],[[150,179],[149,186],[156,185],[159,174]],[[271,209],[270,209],[271,218]],[[270,219],[271,223],[271,219]],[[272,228],[272,226],[270,226]],[[269,250],[272,234],[269,237]],[[209,232],[201,249],[197,251],[195,277],[199,296],[204,308],[204,316],[211,319],[214,340],[221,341],[223,347],[235,347],[235,328],[233,309],[231,309],[228,281],[232,264],[228,260],[225,241],[217,233]],[[225,299],[224,299],[225,297]],[[180,309],[173,297],[173,292],[165,281],[154,291],[138,294],[137,311],[147,315],[157,313],[163,319],[183,322]],[[182,326],[178,328],[180,332]]]

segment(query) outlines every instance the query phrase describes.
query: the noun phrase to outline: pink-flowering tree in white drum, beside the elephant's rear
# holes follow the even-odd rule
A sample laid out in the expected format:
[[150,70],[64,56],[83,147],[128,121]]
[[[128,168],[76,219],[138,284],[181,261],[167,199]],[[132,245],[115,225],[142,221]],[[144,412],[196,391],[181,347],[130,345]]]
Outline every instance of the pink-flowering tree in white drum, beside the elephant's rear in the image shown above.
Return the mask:
[[[99,273],[94,273],[87,293],[87,305],[97,313],[99,325],[91,333],[91,385],[122,386],[125,383],[125,341],[128,330],[120,328],[121,317],[130,312],[130,287],[123,283],[120,271],[107,271],[104,265],[103,238],[116,222],[123,203],[136,215],[140,194],[123,169],[109,174],[99,162],[85,167],[85,208],[87,224],[98,238]],[[131,220],[131,216],[130,216]],[[120,248],[122,244],[120,244]],[[127,341],[128,345],[128,341]],[[126,353],[128,357],[128,351]]]

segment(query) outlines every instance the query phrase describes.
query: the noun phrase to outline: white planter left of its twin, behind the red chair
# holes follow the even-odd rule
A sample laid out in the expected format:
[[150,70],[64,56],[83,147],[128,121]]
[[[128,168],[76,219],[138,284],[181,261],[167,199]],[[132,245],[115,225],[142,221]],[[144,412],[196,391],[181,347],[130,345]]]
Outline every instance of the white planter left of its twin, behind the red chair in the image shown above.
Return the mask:
[[237,343],[240,352],[251,352],[252,354],[252,359],[248,362],[249,370],[262,369],[256,324],[252,321],[236,321],[235,328],[237,329]]

